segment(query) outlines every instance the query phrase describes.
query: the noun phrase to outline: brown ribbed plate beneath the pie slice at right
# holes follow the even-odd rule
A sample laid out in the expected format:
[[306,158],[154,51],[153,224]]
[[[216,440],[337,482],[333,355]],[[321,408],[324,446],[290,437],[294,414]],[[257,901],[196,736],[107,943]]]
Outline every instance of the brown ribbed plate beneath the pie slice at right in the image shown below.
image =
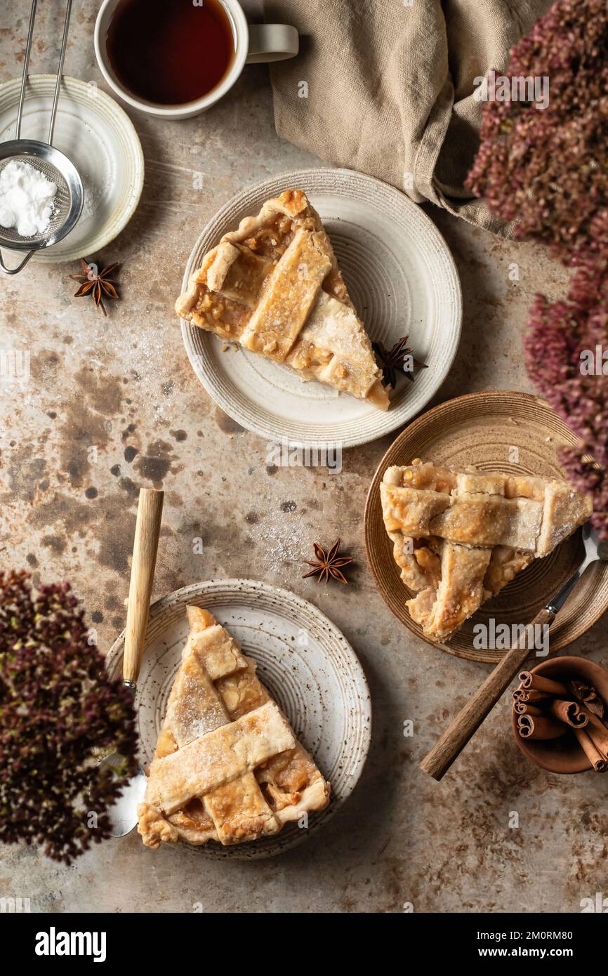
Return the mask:
[[[469,661],[495,664],[504,651],[473,647],[473,627],[488,624],[528,624],[580,564],[580,532],[519,573],[497,597],[484,603],[449,643],[431,641],[410,618],[406,599],[413,596],[401,582],[392,558],[380,501],[380,482],[391,465],[411,465],[415,458],[449,468],[479,468],[563,478],[558,449],[576,444],[572,431],[546,400],[507,389],[470,393],[429,410],[410,425],[386,451],[370,487],[364,533],[368,563],[376,585],[396,617],[427,643]],[[517,459],[517,460],[515,460]],[[608,566],[590,566],[558,613],[550,630],[551,651],[580,637],[608,609]]]

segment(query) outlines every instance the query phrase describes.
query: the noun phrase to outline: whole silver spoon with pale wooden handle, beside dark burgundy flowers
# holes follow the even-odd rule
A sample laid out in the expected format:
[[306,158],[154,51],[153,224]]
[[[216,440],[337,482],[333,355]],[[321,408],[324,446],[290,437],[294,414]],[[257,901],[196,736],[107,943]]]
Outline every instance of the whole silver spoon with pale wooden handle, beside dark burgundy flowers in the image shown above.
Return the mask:
[[[164,492],[154,491],[152,488],[140,490],[122,662],[123,684],[133,693],[134,698],[142,665],[143,639],[150,608],[164,497]],[[105,755],[100,762],[122,779],[120,768],[124,758],[120,753]],[[138,803],[142,801],[144,792],[145,773],[138,763],[135,776],[123,784],[122,794],[108,810],[110,834],[113,837],[123,837],[133,830],[138,822]]]

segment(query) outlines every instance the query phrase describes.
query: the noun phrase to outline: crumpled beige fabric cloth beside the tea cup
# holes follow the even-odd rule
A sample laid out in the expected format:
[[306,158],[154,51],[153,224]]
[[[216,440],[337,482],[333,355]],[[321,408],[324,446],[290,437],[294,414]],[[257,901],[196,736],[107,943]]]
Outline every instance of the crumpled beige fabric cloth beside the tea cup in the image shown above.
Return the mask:
[[[276,130],[336,166],[369,173],[472,224],[501,222],[463,182],[478,145],[473,79],[551,0],[265,0],[301,53],[271,66]],[[303,97],[306,95],[307,97]]]

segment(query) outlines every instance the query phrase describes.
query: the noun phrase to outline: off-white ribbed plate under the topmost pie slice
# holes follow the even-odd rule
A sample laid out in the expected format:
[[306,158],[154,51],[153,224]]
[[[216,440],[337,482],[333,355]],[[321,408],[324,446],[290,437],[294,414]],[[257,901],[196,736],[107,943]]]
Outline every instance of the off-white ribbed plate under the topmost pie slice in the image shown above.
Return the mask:
[[223,351],[217,337],[186,322],[183,343],[202,385],[242,427],[273,442],[365,444],[419,413],[447,376],[461,334],[456,265],[424,211],[392,186],[351,170],[299,170],[250,186],[223,206],[194,245],[182,288],[226,231],[289,188],[303,189],[318,210],[372,340],[389,348],[409,335],[428,369],[414,384],[402,378],[384,413],[330,386],[303,383],[263,356]]

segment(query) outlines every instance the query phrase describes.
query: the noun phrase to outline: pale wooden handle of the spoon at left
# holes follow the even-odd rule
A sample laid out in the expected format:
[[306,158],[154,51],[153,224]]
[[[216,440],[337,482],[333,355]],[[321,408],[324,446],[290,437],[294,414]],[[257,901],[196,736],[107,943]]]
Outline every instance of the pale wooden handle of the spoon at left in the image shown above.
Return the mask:
[[125,681],[135,682],[140,675],[143,637],[150,609],[164,497],[164,492],[154,491],[153,488],[140,490],[127,606],[125,655],[122,663],[122,676]]

